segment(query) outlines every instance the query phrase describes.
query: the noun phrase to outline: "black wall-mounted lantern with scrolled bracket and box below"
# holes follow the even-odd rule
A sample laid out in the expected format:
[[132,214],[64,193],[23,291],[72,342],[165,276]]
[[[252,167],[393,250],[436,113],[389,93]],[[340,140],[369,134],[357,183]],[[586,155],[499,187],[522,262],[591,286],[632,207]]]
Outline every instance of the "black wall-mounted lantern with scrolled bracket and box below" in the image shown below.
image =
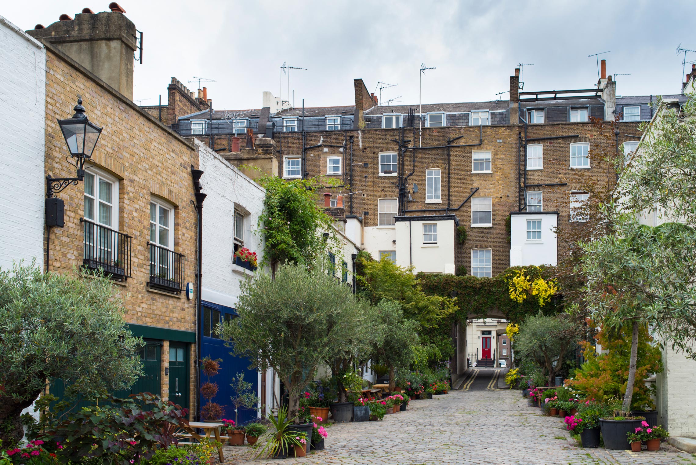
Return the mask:
[[63,191],[70,184],[77,186],[77,183],[84,180],[85,161],[92,157],[97,141],[102,128],[91,123],[85,114],[85,107],[82,106],[82,97],[77,99],[77,105],[74,107],[75,114],[67,120],[58,120],[58,125],[61,127],[65,143],[70,151],[75,168],[77,168],[77,177],[75,178],[53,178],[51,175],[46,176],[46,226],[63,228],[63,213],[64,203],[60,198],[55,198],[54,194]]

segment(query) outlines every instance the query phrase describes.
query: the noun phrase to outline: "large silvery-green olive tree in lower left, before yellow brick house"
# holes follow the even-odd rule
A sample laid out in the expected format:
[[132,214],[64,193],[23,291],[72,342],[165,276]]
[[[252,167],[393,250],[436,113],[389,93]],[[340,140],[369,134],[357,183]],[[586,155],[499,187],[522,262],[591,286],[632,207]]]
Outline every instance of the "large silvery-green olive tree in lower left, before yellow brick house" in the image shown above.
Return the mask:
[[[142,368],[111,282],[16,265],[0,270],[0,439],[22,439],[19,415],[60,377],[83,397],[132,386]],[[7,440],[7,441],[6,441]]]

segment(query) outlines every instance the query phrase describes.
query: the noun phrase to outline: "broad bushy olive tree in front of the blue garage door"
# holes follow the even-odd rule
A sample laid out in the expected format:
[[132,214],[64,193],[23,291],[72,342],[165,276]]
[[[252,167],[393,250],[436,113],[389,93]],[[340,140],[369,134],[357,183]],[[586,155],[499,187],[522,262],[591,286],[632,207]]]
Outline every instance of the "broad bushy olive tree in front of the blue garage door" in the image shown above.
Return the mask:
[[242,283],[239,317],[219,326],[233,354],[251,360],[249,368],[273,368],[290,397],[290,417],[299,409],[299,393],[317,367],[339,354],[349,335],[361,327],[364,307],[350,287],[338,283],[320,265],[309,269],[287,263],[275,279],[257,274]]

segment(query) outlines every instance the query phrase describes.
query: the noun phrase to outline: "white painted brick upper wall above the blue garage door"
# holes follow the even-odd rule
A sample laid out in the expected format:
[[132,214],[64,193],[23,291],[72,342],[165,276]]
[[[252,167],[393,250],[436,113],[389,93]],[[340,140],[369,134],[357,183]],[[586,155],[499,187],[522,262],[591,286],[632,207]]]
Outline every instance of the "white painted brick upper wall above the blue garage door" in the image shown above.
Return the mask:
[[[235,230],[235,203],[251,215],[246,223],[244,246],[263,257],[260,235],[256,232],[258,217],[263,212],[265,190],[226,159],[196,140],[200,169],[203,170],[203,300],[233,307],[239,297],[240,283],[248,279],[232,271]],[[223,297],[224,296],[224,297]]]

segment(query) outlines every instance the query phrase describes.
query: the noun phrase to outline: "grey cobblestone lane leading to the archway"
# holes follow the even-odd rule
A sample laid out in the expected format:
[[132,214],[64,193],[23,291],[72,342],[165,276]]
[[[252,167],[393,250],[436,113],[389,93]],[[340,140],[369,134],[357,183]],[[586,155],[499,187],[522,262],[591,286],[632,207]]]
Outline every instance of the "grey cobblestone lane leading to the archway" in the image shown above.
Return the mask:
[[226,446],[227,463],[696,464],[696,455],[666,443],[658,452],[581,448],[559,418],[541,416],[538,408],[528,407],[519,391],[497,390],[497,383],[491,384],[495,371],[480,369],[468,391],[413,400],[407,411],[387,415],[379,422],[329,425],[326,450],[307,457],[251,461],[248,446]]

